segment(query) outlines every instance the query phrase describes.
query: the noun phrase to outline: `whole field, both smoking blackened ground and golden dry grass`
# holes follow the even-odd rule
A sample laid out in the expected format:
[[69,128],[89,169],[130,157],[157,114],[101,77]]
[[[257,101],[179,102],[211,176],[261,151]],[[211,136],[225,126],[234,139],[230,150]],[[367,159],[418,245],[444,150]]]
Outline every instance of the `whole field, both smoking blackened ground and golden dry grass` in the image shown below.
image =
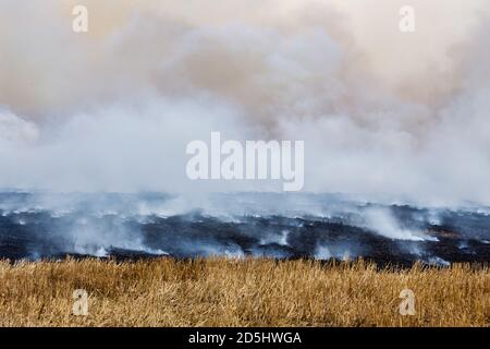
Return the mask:
[[[0,326],[490,325],[482,206],[266,193],[193,204],[155,193],[0,197]],[[75,290],[86,316],[73,313]],[[412,314],[401,314],[403,292]]]

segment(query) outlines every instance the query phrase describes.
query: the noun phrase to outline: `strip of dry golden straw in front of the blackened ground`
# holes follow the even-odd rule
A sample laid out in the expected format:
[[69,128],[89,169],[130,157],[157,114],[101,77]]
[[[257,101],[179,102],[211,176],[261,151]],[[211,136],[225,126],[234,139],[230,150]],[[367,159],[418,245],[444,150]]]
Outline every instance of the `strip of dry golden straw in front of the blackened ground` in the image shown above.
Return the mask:
[[[400,292],[415,293],[402,316]],[[73,292],[88,314],[73,314]],[[0,262],[0,326],[490,326],[487,267],[357,261]]]

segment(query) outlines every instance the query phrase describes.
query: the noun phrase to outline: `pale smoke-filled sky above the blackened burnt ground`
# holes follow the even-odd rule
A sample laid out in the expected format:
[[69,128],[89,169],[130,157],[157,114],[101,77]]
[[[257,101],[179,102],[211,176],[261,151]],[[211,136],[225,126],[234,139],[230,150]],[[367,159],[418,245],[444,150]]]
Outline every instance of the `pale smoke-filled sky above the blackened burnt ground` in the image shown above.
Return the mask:
[[0,188],[281,188],[188,181],[220,131],[305,140],[306,191],[489,204],[490,1],[409,2],[0,0]]

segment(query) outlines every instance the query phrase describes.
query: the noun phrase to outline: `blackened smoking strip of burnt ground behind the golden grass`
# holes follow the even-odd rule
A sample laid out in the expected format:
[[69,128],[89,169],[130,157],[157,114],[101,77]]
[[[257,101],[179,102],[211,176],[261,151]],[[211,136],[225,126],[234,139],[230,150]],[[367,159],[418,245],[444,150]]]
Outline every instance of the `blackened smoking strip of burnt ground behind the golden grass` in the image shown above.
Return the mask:
[[0,194],[0,258],[68,255],[488,263],[490,209],[327,194]]

